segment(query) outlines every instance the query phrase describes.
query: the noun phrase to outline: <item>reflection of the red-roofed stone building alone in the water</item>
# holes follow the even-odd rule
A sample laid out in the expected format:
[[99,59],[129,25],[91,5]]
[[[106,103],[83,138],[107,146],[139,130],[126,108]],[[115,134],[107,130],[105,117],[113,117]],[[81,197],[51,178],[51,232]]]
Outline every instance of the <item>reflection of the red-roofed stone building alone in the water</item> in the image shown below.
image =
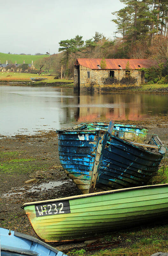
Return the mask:
[[118,120],[140,120],[148,117],[142,113],[139,94],[101,94],[81,93],[74,98],[77,108],[74,117],[77,121],[92,121],[97,118]]

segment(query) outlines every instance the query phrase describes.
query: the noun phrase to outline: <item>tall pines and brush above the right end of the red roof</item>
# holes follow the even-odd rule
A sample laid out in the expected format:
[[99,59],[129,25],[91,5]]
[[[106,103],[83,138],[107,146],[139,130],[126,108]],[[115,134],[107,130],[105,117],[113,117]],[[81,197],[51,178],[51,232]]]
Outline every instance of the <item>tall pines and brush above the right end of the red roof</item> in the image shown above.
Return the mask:
[[122,35],[121,53],[128,58],[168,60],[168,1],[120,0],[125,7],[112,19]]

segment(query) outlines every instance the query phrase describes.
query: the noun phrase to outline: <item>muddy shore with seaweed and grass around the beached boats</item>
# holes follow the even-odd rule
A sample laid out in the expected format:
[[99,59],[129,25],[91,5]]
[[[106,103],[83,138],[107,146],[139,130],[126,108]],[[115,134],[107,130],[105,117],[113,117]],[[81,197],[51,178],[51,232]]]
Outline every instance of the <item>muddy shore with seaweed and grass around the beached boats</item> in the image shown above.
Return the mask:
[[[127,123],[147,127],[150,133],[157,133],[163,143],[168,145],[168,115],[151,117],[150,120],[143,121],[127,120]],[[25,218],[25,212],[21,209],[23,203],[81,193],[62,170],[55,131],[41,132],[32,136],[4,136],[0,141],[0,226],[36,236],[29,220]],[[31,179],[31,182],[25,183]],[[150,184],[157,182],[168,182],[168,168],[164,176],[161,171],[150,181]],[[138,253],[147,256],[157,251],[168,251],[167,241],[168,225],[153,224],[149,227],[107,234],[96,241],[99,247],[96,247],[96,244],[89,247],[84,242],[51,245],[68,255],[76,256],[93,254],[94,251],[97,251],[97,256],[131,256]]]

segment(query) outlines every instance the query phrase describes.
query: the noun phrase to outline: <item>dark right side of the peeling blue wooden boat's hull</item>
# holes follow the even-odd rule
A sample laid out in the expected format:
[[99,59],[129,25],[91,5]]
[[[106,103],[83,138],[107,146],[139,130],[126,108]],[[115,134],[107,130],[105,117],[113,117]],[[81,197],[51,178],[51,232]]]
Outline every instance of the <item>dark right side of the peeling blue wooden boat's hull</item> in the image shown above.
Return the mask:
[[97,188],[105,190],[145,185],[158,170],[163,155],[110,135],[99,166]]

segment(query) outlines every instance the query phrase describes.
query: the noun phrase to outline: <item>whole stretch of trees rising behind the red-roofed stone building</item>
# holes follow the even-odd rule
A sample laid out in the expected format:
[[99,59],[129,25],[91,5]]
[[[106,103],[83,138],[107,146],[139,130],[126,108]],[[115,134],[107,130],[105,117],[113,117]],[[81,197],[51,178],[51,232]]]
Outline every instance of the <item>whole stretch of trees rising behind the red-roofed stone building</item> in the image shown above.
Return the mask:
[[[96,31],[86,41],[79,35],[61,40],[60,53],[44,58],[46,65],[52,62],[51,66],[58,76],[63,71],[65,77],[72,77],[76,58],[147,58],[155,59],[158,63],[168,61],[168,0],[119,1],[124,3],[124,7],[112,12],[115,18],[111,21],[116,24],[113,39]],[[154,80],[153,75],[151,77]],[[160,75],[156,78],[162,79]]]

